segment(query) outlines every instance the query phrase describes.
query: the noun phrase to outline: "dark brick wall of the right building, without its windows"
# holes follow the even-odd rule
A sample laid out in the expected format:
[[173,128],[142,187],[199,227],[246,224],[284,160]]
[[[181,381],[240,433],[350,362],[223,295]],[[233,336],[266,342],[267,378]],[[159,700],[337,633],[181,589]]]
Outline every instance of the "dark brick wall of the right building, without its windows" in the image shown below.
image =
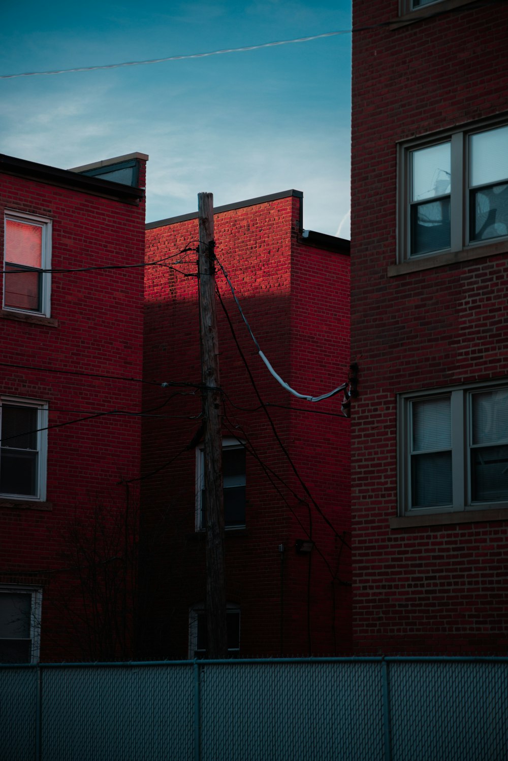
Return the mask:
[[[353,2],[355,27],[397,13],[397,0]],[[389,277],[388,267],[396,144],[506,110],[507,20],[504,4],[470,5],[353,34],[353,638],[363,653],[506,651],[508,521],[389,526],[396,394],[508,374],[506,246],[422,272]]]

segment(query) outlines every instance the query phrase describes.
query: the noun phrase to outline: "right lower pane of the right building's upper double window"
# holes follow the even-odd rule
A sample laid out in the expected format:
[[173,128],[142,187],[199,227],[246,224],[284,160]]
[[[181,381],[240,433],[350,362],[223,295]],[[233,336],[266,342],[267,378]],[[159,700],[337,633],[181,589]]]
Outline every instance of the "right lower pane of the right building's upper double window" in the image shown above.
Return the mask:
[[508,235],[508,184],[471,190],[471,240]]

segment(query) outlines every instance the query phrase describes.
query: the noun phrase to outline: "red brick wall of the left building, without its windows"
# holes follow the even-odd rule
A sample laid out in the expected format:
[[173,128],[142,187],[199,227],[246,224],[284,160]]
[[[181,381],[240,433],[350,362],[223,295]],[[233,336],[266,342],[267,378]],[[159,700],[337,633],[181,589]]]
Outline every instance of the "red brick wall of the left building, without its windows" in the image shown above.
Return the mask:
[[[143,201],[7,174],[0,182],[2,218],[9,209],[53,220],[53,269],[142,264]],[[43,661],[86,657],[88,632],[66,610],[82,593],[73,522],[84,527],[79,542],[89,551],[86,532],[97,528],[97,509],[104,508],[104,527],[115,524],[126,505],[118,484],[139,475],[140,419],[123,411],[140,411],[141,384],[117,376],[141,377],[142,280],[142,267],[54,272],[51,322],[14,320],[6,311],[0,319],[2,362],[24,365],[0,366],[0,392],[49,405],[46,504],[0,501],[0,583],[43,587]],[[119,414],[98,416],[113,410]],[[97,575],[101,562],[119,553],[97,550]]]

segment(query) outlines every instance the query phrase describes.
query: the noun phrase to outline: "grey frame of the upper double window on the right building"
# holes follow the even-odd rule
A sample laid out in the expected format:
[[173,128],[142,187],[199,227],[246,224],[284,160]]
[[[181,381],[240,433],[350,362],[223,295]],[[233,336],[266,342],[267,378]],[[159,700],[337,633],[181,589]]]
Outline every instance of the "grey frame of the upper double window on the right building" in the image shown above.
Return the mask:
[[[508,114],[497,115],[480,123],[455,126],[446,131],[420,135],[398,144],[398,225],[397,261],[399,264],[422,262],[439,256],[457,256],[460,252],[474,253],[495,247],[508,240],[505,236],[470,240],[469,225],[469,137],[490,129],[508,126]],[[450,193],[450,247],[411,255],[411,151],[451,142],[452,189]],[[431,199],[429,199],[431,200]]]

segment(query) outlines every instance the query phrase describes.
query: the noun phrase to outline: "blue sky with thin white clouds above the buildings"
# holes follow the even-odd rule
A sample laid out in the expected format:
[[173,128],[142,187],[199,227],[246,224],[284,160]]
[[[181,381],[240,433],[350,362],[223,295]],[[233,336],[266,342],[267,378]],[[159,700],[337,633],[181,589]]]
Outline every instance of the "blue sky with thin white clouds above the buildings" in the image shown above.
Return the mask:
[[[0,74],[350,29],[350,0],[96,2],[2,9]],[[0,79],[0,152],[74,167],[150,156],[147,221],[295,188],[304,226],[349,237],[351,35],[153,65]]]

